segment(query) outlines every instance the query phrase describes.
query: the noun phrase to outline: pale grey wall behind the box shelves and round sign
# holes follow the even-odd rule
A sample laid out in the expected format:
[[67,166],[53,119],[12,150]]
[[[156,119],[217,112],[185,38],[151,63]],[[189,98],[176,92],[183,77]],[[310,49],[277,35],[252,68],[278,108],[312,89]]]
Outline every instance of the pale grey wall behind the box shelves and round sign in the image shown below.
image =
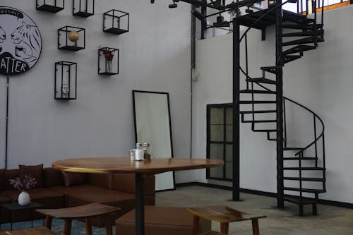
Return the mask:
[[[79,18],[72,16],[71,1],[56,14],[36,11],[34,0],[1,1],[1,6],[27,13],[42,34],[37,65],[11,77],[8,168],[49,166],[63,158],[127,156],[135,141],[131,90],[169,92],[174,157],[190,157],[189,4],[169,9],[164,1],[95,2],[95,15]],[[113,8],[130,13],[130,32],[102,32],[102,13]],[[56,30],[64,25],[85,28],[84,50],[57,49]],[[120,49],[119,76],[97,75],[100,45]],[[78,63],[77,100],[53,98],[54,63],[61,60]],[[6,77],[0,78],[0,167],[4,167]]]

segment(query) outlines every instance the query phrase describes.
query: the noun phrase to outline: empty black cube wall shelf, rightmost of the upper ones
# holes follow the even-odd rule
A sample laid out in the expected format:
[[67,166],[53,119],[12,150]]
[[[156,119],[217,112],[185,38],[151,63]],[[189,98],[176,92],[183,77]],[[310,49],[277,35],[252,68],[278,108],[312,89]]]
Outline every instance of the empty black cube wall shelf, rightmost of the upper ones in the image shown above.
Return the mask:
[[130,14],[124,11],[111,10],[103,14],[103,31],[115,35],[128,32]]

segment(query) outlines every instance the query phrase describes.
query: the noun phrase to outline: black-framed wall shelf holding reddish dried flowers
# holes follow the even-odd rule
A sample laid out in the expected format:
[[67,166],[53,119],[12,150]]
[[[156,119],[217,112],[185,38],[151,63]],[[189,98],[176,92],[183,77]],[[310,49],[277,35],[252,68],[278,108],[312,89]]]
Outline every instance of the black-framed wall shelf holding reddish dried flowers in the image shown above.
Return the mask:
[[111,47],[98,49],[98,74],[119,74],[119,49]]

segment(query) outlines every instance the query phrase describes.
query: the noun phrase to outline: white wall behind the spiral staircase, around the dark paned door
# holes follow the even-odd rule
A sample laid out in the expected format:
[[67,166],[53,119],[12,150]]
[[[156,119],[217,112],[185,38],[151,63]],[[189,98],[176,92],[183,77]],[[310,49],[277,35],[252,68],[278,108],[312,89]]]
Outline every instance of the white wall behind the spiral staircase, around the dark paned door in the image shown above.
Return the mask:
[[[312,109],[325,123],[327,193],[321,198],[345,203],[353,203],[352,11],[353,6],[347,6],[325,13],[325,42],[284,68],[285,96]],[[275,64],[273,31],[268,29],[265,42],[257,30],[249,34],[253,77],[261,76],[260,66]],[[193,157],[205,158],[206,104],[232,102],[232,35],[198,41],[197,66],[200,77],[194,83]],[[299,143],[301,131],[306,131],[312,118],[294,121],[292,129],[297,130],[292,141]],[[241,188],[276,192],[275,143],[266,140],[265,133],[252,133],[249,124],[242,123],[240,131]],[[205,170],[198,171],[196,179],[205,182]]]

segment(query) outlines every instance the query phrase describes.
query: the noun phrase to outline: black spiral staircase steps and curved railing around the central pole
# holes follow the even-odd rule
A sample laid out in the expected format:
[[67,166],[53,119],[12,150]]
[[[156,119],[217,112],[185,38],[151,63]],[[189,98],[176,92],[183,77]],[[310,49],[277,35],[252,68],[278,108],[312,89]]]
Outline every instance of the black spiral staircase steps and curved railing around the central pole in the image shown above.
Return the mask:
[[[247,26],[249,29],[263,30],[264,32],[268,26],[276,23],[275,6],[276,4],[273,4],[273,6],[270,4],[269,8],[265,10],[250,11],[249,14],[238,17],[236,19],[237,24]],[[251,123],[251,130],[254,132],[266,133],[268,140],[283,143],[283,145],[280,145],[280,149],[283,151],[282,163],[280,163],[280,171],[282,172],[277,174],[277,181],[280,182],[280,186],[277,183],[277,193],[282,193],[283,196],[280,200],[283,201],[283,205],[284,201],[299,205],[299,215],[304,214],[304,205],[312,205],[313,215],[316,215],[318,195],[326,191],[325,127],[317,114],[294,102],[294,100],[282,96],[282,91],[279,93],[276,88],[279,78],[278,73],[281,71],[280,77],[282,77],[283,66],[291,61],[300,59],[304,56],[304,52],[316,49],[318,43],[324,41],[323,14],[321,15],[321,23],[317,23],[319,21],[317,15],[316,6],[313,6],[313,18],[308,18],[305,13],[282,11],[282,40],[280,40],[282,41],[282,53],[279,56],[280,63],[277,63],[276,66],[261,67],[261,78],[251,78],[249,73],[247,73],[247,53],[245,71],[238,62],[239,70],[244,73],[246,78],[246,89],[239,89],[239,115],[241,116],[241,122]],[[249,30],[246,30],[245,34],[247,32]],[[238,46],[242,39],[246,39],[244,36],[240,38]],[[247,47],[247,44],[245,46]],[[285,81],[285,78],[283,80]],[[283,135],[280,139],[276,136],[278,131],[276,124],[280,125],[282,121],[278,120],[278,115],[281,114],[277,113],[278,106],[276,108],[278,96],[282,99],[280,105],[282,110],[280,112],[282,112],[283,118]],[[287,125],[290,124],[287,120],[287,112],[289,112],[286,108],[287,106],[290,106],[292,111],[294,109],[302,109],[312,116],[309,121],[313,122],[314,133],[313,138],[308,143],[290,145],[295,141],[287,140],[290,137],[290,133],[287,133]],[[295,143],[298,143],[298,141]],[[279,151],[278,146],[277,144],[277,151]],[[277,170],[278,166],[277,162]]]

